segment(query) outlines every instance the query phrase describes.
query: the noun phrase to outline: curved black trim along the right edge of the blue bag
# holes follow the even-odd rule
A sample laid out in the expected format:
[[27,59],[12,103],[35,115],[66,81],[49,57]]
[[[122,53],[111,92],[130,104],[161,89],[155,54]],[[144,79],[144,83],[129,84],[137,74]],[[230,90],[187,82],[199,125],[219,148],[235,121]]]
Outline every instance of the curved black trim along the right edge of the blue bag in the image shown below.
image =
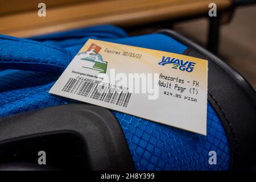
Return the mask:
[[237,71],[198,44],[171,30],[158,33],[187,46],[184,55],[209,60],[208,101],[224,125],[231,150],[231,169],[255,169],[255,90]]

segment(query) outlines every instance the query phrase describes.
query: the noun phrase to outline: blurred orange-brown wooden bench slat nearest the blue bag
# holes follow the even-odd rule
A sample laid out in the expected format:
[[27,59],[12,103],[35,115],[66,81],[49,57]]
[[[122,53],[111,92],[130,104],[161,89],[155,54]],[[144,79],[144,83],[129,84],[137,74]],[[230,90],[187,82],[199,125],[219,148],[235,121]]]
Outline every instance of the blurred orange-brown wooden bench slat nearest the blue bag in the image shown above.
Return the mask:
[[47,9],[46,17],[38,17],[36,7],[36,11],[0,17],[0,34],[24,37],[106,23],[134,26],[208,13],[210,2],[215,2],[218,10],[231,6],[230,0],[90,1]]

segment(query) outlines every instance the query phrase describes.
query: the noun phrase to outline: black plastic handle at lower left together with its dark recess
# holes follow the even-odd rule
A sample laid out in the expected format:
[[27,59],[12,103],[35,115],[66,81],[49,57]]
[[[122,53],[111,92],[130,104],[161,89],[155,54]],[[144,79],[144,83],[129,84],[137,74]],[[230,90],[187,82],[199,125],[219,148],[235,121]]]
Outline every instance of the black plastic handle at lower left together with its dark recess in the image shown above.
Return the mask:
[[37,169],[40,150],[55,169],[134,169],[121,126],[103,107],[68,104],[0,119],[0,169]]

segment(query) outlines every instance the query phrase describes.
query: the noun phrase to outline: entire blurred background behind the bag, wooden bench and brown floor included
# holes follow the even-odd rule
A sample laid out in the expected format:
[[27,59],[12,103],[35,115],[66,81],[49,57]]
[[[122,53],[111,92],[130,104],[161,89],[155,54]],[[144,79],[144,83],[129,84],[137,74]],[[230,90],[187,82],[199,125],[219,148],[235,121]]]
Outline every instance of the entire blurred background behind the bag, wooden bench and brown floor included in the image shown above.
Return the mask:
[[[46,5],[45,16],[39,16]],[[209,16],[216,5],[217,16]],[[172,29],[215,53],[256,89],[255,0],[0,0],[0,34],[28,38],[97,24],[130,35]],[[214,8],[214,7],[213,7]]]

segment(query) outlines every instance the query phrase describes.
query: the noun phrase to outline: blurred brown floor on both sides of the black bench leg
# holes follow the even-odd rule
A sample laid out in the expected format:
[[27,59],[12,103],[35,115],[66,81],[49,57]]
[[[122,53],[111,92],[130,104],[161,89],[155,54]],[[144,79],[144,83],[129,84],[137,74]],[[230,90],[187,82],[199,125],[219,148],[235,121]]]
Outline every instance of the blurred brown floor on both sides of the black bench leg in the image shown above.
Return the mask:
[[[174,30],[206,47],[207,26],[207,19],[200,18],[177,23]],[[256,5],[239,7],[232,20],[221,26],[218,57],[240,72],[256,89]]]

